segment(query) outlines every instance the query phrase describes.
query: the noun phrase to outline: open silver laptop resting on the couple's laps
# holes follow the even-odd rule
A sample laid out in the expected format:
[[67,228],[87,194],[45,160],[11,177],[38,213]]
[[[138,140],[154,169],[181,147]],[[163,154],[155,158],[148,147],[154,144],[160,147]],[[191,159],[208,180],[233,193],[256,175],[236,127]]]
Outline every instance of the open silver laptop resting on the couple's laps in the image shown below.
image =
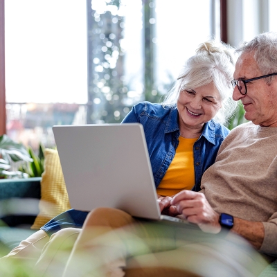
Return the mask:
[[184,222],[161,215],[143,125],[55,125],[53,133],[72,208]]

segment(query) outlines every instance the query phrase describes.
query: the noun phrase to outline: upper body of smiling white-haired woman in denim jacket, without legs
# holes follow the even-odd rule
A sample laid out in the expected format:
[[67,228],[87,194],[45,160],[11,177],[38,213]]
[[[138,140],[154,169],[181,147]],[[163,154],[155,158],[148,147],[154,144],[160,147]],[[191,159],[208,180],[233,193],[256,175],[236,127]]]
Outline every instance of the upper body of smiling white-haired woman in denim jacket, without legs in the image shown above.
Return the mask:
[[[145,130],[157,193],[200,189],[203,172],[214,163],[233,112],[231,48],[215,42],[199,46],[161,104],[141,102],[123,123]],[[212,118],[215,118],[213,120]]]

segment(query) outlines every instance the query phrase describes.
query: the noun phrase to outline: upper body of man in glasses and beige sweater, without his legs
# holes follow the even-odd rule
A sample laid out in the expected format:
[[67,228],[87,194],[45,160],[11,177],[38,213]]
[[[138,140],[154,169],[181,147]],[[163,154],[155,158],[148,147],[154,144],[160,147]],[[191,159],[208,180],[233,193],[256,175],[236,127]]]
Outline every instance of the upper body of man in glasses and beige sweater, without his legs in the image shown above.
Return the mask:
[[277,35],[265,33],[237,50],[233,99],[245,118],[222,143],[202,178],[202,192],[183,191],[172,205],[188,221],[221,229],[228,213],[232,232],[256,249],[277,255]]

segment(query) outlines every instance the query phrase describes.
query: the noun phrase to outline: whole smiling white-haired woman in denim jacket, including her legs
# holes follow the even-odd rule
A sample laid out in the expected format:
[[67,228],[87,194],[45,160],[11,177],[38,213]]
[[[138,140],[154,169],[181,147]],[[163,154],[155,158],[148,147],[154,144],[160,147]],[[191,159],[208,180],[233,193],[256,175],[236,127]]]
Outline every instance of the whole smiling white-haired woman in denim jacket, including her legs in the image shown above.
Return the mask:
[[[141,102],[123,120],[143,125],[163,214],[168,213],[172,196],[181,190],[200,190],[204,171],[215,162],[217,151],[229,133],[223,123],[235,109],[231,100],[234,63],[231,46],[215,41],[200,44],[161,104]],[[80,229],[63,228],[80,228],[86,217],[87,212],[75,210],[58,215],[2,260],[28,258],[33,267],[47,243],[37,268],[51,272],[44,257],[53,247],[62,249],[62,244],[69,242],[67,238],[72,239],[66,244],[71,249]],[[57,255],[58,252],[55,251]],[[55,276],[59,274],[55,272]]]

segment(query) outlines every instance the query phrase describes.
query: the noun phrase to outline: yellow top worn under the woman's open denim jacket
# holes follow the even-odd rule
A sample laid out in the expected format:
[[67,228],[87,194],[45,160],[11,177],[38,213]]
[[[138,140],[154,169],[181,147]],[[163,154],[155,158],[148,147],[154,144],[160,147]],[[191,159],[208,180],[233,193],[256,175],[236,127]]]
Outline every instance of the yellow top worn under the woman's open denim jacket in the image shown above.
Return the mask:
[[172,196],[181,190],[193,188],[195,185],[193,145],[197,139],[185,139],[179,136],[175,157],[157,188],[158,195]]

